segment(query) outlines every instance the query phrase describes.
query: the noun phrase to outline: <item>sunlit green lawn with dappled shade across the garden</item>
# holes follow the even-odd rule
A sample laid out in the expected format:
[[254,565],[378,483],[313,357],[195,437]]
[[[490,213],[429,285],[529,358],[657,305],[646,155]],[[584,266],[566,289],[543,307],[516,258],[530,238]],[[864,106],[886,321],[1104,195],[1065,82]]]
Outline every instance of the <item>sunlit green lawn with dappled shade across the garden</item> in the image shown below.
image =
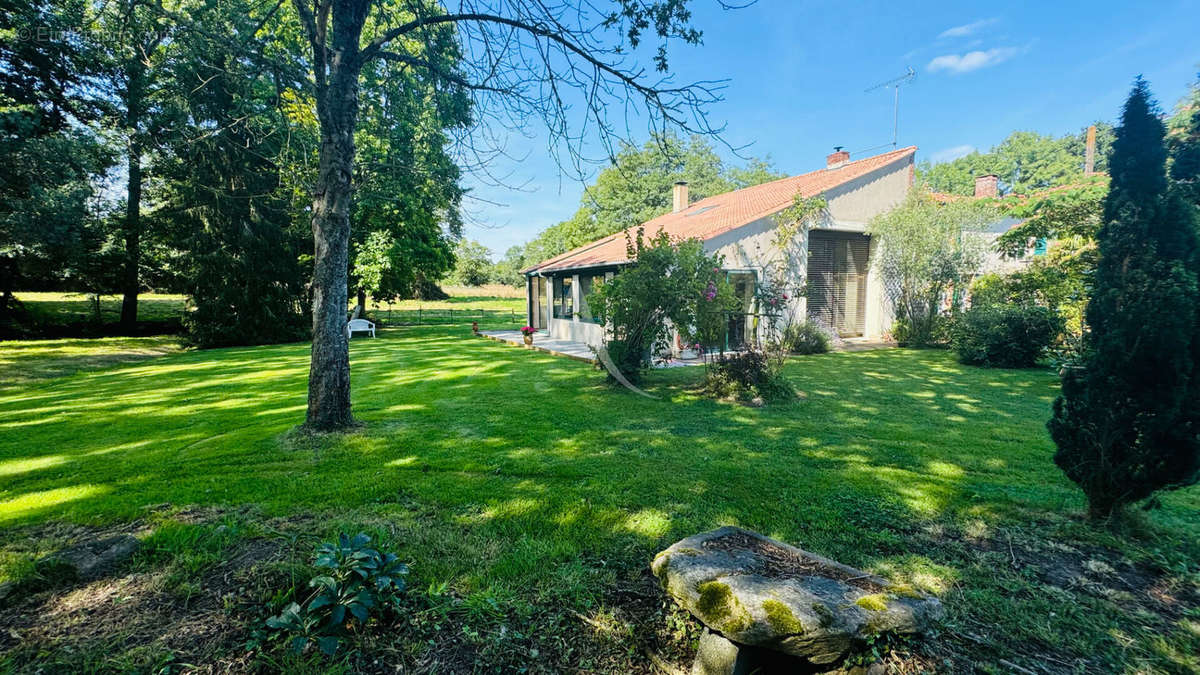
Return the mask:
[[[364,528],[410,563],[422,602],[464,608],[372,653],[412,665],[466,645],[493,664],[588,668],[566,645],[616,623],[612,653],[644,668],[635,647],[660,627],[618,621],[623,589],[676,539],[736,524],[938,593],[946,628],[904,647],[937,669],[1200,667],[1200,490],[1121,534],[1085,526],[1050,459],[1049,371],[937,351],[799,357],[787,375],[805,398],[750,408],[700,398],[696,369],[652,374],[652,400],[462,327],[391,328],[352,344],[362,426],[310,437],[293,431],[307,365],[306,345],[191,351],[0,389],[0,577],[78,526]],[[695,626],[676,634],[685,653]],[[18,668],[78,665],[58,639],[0,649]],[[133,647],[114,645],[102,663],[120,669]]]

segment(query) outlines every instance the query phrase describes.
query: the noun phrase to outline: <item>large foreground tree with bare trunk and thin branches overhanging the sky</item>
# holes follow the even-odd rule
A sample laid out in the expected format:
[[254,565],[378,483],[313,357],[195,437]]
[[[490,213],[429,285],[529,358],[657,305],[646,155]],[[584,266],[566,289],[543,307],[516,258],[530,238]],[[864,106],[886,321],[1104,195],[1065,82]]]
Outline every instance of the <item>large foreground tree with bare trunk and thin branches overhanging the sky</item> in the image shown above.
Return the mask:
[[[406,65],[442,86],[470,91],[488,119],[499,115],[514,129],[524,129],[529,118],[541,119],[552,139],[575,149],[581,148],[580,129],[595,132],[601,147],[613,147],[619,133],[606,109],[614,103],[638,107],[656,131],[680,126],[712,132],[696,114],[715,100],[712,89],[653,80],[624,55],[625,49],[638,49],[644,35],[654,35],[660,40],[655,66],[666,72],[670,41],[700,42],[688,5],[460,0],[446,10],[415,0],[293,0],[311,48],[320,129],[311,211],[313,344],[306,426],[336,430],[353,424],[344,323],[364,67],[377,59]],[[455,29],[466,55],[457,70],[430,58],[436,50],[428,47],[444,26]],[[569,124],[576,114],[582,118],[578,127]]]

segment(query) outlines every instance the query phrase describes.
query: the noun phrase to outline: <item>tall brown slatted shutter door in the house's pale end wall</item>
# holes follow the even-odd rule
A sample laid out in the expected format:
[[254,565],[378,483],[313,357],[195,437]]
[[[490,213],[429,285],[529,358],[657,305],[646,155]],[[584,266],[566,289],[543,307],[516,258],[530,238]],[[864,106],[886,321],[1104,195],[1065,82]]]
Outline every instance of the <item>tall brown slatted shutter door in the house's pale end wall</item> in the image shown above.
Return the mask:
[[850,232],[809,232],[809,317],[844,338],[866,327],[870,239]]

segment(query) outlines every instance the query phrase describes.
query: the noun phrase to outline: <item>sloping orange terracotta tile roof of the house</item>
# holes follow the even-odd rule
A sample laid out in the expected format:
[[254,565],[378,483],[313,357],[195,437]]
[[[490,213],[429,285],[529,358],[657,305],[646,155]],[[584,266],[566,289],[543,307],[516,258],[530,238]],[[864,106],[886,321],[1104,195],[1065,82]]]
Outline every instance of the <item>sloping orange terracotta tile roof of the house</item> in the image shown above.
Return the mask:
[[[905,159],[916,151],[916,147],[901,148],[874,157],[846,162],[838,168],[822,168],[707,197],[690,204],[682,211],[664,214],[647,221],[643,223],[646,237],[654,237],[660,231],[665,231],[677,239],[695,237],[708,240],[790,207],[796,195],[804,197],[821,195]],[[552,271],[626,262],[629,262],[629,256],[625,251],[625,232],[622,231],[545,259],[522,271]]]

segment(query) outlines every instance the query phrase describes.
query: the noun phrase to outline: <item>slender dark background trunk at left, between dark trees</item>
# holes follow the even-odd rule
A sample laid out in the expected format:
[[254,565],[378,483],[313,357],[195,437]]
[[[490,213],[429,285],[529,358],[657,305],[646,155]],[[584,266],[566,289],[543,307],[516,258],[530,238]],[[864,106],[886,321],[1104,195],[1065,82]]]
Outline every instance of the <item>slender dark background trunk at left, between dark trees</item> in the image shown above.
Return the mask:
[[138,322],[138,265],[142,261],[142,98],[145,67],[133,59],[126,70],[125,124],[128,129],[128,179],[125,192],[125,274],[121,279],[121,327],[132,329]]

